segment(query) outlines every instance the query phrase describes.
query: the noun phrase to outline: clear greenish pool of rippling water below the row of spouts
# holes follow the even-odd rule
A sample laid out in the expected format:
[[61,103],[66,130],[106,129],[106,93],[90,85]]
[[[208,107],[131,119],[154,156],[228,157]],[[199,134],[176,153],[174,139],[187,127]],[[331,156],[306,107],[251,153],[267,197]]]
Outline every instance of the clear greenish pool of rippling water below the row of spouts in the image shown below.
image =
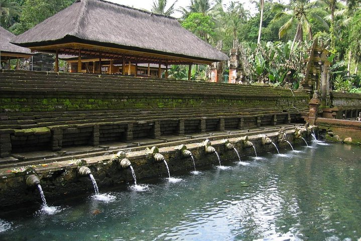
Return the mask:
[[[290,148],[289,148],[290,149]],[[312,143],[0,214],[0,240],[357,240],[361,148]],[[276,152],[276,151],[275,151]],[[197,160],[196,160],[197,164]],[[248,164],[248,165],[247,165]],[[172,170],[170,170],[172,173]],[[90,180],[89,180],[90,181]],[[132,183],[130,184],[132,185]]]

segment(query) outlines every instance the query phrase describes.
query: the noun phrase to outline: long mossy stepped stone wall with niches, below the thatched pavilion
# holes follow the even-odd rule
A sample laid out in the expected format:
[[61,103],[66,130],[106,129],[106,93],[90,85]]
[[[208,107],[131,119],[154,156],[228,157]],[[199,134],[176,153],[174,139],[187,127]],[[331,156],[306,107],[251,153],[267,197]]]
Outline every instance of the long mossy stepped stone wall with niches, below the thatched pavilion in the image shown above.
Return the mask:
[[302,91],[171,79],[0,71],[0,157],[303,122]]

